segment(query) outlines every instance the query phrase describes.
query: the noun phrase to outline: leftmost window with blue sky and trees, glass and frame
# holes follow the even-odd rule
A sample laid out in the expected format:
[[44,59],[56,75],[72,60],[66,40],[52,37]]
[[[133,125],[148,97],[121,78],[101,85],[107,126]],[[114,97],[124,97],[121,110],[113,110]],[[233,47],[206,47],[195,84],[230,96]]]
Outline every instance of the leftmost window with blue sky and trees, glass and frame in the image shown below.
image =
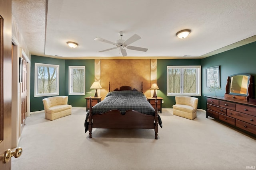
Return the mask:
[[35,63],[35,97],[59,95],[59,67]]

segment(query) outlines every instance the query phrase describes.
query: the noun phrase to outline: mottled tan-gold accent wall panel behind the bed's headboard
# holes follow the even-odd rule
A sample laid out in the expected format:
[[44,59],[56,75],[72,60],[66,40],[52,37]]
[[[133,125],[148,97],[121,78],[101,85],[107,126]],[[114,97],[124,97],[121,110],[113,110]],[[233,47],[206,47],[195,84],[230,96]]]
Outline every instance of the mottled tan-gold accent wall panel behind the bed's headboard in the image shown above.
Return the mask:
[[[108,82],[110,81],[110,91],[120,86],[131,86],[138,91],[141,90],[143,82],[143,93],[151,96],[151,77],[156,77],[156,60],[151,64],[150,59],[132,60],[101,60],[100,62],[100,82],[102,89],[102,99],[108,93]],[[153,73],[151,67],[153,67]],[[156,79],[155,79],[156,81]]]

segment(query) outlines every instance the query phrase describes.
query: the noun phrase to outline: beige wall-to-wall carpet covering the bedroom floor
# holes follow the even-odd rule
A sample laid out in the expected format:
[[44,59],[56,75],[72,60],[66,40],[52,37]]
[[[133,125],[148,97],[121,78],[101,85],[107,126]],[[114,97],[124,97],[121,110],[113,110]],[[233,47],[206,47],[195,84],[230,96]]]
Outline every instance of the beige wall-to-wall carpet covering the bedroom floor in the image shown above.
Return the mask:
[[158,140],[152,129],[94,129],[84,133],[85,109],[49,121],[26,120],[12,170],[246,170],[256,166],[256,139],[198,110],[194,120],[163,109]]

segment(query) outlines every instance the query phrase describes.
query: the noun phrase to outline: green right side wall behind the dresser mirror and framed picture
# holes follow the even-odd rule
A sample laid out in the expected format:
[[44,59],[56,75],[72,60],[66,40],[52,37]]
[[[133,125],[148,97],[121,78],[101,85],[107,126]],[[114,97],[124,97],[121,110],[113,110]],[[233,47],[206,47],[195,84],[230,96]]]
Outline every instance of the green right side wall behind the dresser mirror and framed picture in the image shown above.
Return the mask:
[[[213,96],[206,88],[206,68],[220,66],[220,87],[216,96],[224,96],[228,76],[238,73],[256,76],[256,42],[202,59],[202,109],[206,109],[206,96]],[[255,81],[254,81],[255,82]],[[254,83],[255,92],[255,83]]]

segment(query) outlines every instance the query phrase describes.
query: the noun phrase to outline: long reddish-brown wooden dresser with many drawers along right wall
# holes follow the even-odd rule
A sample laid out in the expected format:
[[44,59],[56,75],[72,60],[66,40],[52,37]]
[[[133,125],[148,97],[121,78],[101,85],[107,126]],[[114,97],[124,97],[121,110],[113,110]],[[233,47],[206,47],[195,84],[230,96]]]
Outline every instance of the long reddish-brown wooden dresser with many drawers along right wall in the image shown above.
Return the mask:
[[225,97],[205,96],[208,116],[256,135],[256,103]]

